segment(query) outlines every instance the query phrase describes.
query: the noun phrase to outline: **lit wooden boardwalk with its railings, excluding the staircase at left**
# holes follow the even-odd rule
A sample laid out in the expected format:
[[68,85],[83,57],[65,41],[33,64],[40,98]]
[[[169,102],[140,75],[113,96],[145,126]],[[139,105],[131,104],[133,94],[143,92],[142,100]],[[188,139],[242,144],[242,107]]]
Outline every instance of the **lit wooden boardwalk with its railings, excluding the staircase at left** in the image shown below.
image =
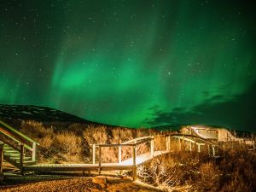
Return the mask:
[[[92,144],[92,163],[91,164],[37,164],[32,166],[23,166],[23,171],[26,172],[98,172],[102,171],[118,171],[118,170],[132,170],[133,179],[137,178],[137,166],[142,165],[148,160],[162,154],[171,153],[171,138],[177,139],[179,149],[185,150],[184,143],[189,143],[189,150],[192,150],[192,145],[196,147],[198,152],[201,152],[201,146],[207,145],[212,147],[212,155],[215,155],[215,145],[207,140],[197,136],[187,136],[183,134],[175,134],[162,137],[162,143],[166,147],[164,150],[154,151],[154,136],[138,137],[131,141],[119,144]],[[137,154],[137,146],[143,143],[149,143],[149,152]],[[118,161],[116,163],[102,162],[102,148],[119,148]],[[132,148],[132,157],[127,160],[122,160],[122,148]],[[98,148],[98,162],[96,163],[96,148]]]

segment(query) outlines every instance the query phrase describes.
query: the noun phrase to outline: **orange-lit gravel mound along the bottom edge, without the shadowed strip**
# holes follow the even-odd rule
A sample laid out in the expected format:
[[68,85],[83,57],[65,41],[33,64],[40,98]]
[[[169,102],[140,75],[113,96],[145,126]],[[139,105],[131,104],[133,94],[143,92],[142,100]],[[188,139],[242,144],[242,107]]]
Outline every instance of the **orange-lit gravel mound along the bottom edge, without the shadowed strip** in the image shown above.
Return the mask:
[[0,190],[4,192],[43,192],[43,191],[160,191],[150,186],[143,186],[140,183],[134,183],[131,179],[107,178],[105,181],[97,180],[93,177],[74,177],[61,180],[43,181],[38,183],[25,183],[17,185],[0,186]]

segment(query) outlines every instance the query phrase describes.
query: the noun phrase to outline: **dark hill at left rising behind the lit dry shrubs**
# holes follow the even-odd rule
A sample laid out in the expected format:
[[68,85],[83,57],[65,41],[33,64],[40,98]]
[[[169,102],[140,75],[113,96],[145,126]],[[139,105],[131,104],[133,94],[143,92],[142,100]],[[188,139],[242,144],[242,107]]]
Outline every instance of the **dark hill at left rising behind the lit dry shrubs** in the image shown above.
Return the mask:
[[93,122],[55,108],[33,105],[0,104],[0,119],[15,126],[16,129],[20,129],[22,122],[25,121],[35,121],[49,127],[53,126],[57,130],[68,130],[68,127],[73,124],[106,126],[108,128],[119,127]]

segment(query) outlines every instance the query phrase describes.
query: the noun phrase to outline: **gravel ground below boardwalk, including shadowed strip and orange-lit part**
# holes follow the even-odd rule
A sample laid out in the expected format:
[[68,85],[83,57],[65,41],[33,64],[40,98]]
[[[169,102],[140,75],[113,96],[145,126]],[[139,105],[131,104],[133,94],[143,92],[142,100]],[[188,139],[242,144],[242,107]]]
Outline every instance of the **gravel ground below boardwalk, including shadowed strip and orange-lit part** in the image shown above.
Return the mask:
[[0,185],[4,192],[43,192],[43,191],[116,191],[116,192],[156,192],[149,186],[132,182],[131,179],[113,177],[55,177],[25,176],[6,177]]

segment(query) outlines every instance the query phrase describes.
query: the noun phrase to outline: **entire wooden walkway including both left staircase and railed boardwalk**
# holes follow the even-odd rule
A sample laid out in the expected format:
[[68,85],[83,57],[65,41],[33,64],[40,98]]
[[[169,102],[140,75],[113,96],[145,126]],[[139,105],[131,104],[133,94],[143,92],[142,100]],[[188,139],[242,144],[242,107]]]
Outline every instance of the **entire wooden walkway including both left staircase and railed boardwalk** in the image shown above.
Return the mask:
[[[164,149],[154,150],[154,143],[156,137],[160,138],[160,143],[165,146]],[[15,128],[7,125],[0,120],[0,175],[3,168],[3,160],[7,160],[9,163],[18,167],[21,172],[98,172],[113,171],[113,170],[132,170],[133,179],[137,177],[137,166],[142,165],[148,160],[152,160],[154,157],[161,154],[167,154],[172,152],[171,138],[178,140],[179,150],[185,150],[185,143],[189,143],[189,150],[197,148],[198,152],[201,152],[202,146],[207,146],[208,151],[212,148],[212,155],[215,155],[215,145],[204,138],[185,134],[174,135],[160,135],[160,136],[147,136],[138,137],[125,143],[114,144],[92,144],[92,163],[91,164],[37,164],[37,146],[31,138],[26,137],[24,134],[15,130]],[[137,148],[141,144],[149,147],[149,152],[143,154],[137,154]],[[194,147],[193,147],[194,146]],[[122,159],[122,149],[125,148],[132,150],[131,158]],[[96,150],[97,148],[97,150]],[[106,163],[102,162],[102,148],[118,148],[118,162]],[[26,150],[26,151],[25,151]],[[97,151],[97,155],[96,155]],[[26,153],[25,153],[26,152]],[[27,156],[27,154],[30,154]],[[97,156],[97,162],[96,162]],[[16,158],[17,157],[17,158]]]

